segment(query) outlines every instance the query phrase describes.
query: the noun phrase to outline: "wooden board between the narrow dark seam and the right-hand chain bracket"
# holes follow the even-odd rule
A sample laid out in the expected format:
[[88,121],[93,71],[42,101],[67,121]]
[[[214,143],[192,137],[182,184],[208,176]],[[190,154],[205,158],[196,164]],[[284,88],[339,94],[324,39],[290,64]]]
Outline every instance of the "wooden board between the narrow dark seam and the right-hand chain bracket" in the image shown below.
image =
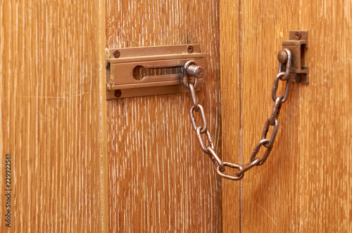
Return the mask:
[[[277,52],[282,49],[282,41],[289,39],[289,30],[306,29],[298,23],[298,14],[289,10],[298,8],[296,3],[285,2],[283,7],[286,11],[279,5],[282,5],[281,1],[246,1],[243,4],[244,24],[241,30],[246,44],[241,48],[244,54],[242,76],[246,77],[242,80],[244,164],[250,160],[253,147],[261,139],[265,121],[272,113],[272,84],[277,75]],[[280,85],[277,93],[284,92],[284,85]],[[244,177],[241,222],[244,232],[298,231],[300,199],[306,198],[298,195],[299,177],[306,174],[304,170],[298,170],[304,166],[299,163],[299,158],[307,156],[299,151],[298,144],[302,87],[291,84],[289,99],[282,106],[279,132],[268,160]],[[260,158],[264,151],[261,149],[258,153]],[[254,219],[256,226],[252,225]]]

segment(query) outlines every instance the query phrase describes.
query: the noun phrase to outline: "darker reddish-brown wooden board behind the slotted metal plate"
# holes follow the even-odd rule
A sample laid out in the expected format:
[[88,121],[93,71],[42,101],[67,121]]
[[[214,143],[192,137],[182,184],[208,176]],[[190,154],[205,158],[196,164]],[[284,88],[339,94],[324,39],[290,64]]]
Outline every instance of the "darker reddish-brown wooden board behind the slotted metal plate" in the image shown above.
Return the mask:
[[[106,1],[108,48],[201,44],[199,103],[221,154],[218,1]],[[110,100],[111,232],[221,232],[220,179],[189,120],[189,94]]]

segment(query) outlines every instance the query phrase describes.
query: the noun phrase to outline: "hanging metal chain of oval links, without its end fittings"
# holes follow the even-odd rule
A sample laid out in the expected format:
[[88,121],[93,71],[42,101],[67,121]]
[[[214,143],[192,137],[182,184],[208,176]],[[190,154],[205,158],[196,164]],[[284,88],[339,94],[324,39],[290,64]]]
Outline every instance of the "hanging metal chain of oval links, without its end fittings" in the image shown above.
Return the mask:
[[[222,162],[222,160],[220,160],[220,158],[216,154],[213,140],[211,139],[210,132],[208,131],[208,125],[206,123],[206,115],[204,113],[204,108],[196,100],[196,93],[194,89],[197,84],[197,78],[194,77],[193,83],[189,82],[188,80],[187,68],[189,67],[189,65],[197,65],[197,63],[196,61],[188,61],[186,64],[184,64],[183,83],[184,83],[184,87],[189,89],[191,100],[193,103],[189,111],[189,115],[191,116],[191,125],[193,126],[194,131],[196,132],[196,136],[198,137],[199,144],[201,145],[201,149],[203,150],[204,153],[206,153],[210,157],[211,160],[213,160],[213,163],[215,163],[215,165],[217,166],[216,172],[218,172],[218,175],[220,175],[220,177],[222,178],[229,179],[229,180],[241,180],[244,177],[244,173],[246,171],[250,170],[254,166],[263,165],[263,163],[265,163],[265,160],[267,160],[268,156],[270,155],[270,152],[272,151],[272,146],[275,141],[277,130],[279,129],[278,118],[282,107],[282,103],[287,101],[287,98],[289,96],[289,85],[290,85],[289,73],[290,73],[290,66],[291,66],[291,51],[289,51],[289,49],[284,49],[284,51],[287,53],[287,61],[284,64],[279,63],[279,73],[276,75],[274,85],[272,86],[272,100],[275,102],[274,107],[272,108],[272,113],[270,115],[270,118],[268,118],[268,120],[266,120],[265,122],[262,137],[253,149],[249,163],[246,163],[244,166],[238,165],[236,163]],[[286,68],[285,71],[283,71],[284,67]],[[279,80],[286,81],[284,96],[282,95],[277,96],[276,94],[277,87],[279,85]],[[194,116],[194,112],[201,113],[203,125],[196,124],[196,118]],[[271,126],[274,127],[274,130],[272,131],[272,135],[270,139],[267,139],[267,134]],[[206,139],[207,139],[206,142],[203,141],[203,138],[202,138],[203,134],[206,134]],[[263,158],[259,158],[257,157],[257,154],[262,148],[262,146],[266,148],[266,151],[264,153]],[[225,174],[225,167],[237,169],[237,172],[235,173],[234,176],[227,175]]]

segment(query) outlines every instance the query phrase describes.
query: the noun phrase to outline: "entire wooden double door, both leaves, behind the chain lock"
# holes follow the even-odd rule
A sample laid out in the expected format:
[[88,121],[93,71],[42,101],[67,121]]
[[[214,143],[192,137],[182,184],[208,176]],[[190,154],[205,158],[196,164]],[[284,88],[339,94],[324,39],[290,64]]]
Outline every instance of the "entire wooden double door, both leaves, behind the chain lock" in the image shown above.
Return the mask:
[[[0,214],[11,209],[11,228],[4,218],[0,231],[351,232],[351,10],[333,0],[1,1]],[[244,164],[289,30],[309,31],[310,83],[291,85],[272,154],[241,182],[220,180],[199,149],[188,94],[106,101],[106,47],[199,43],[215,149]]]

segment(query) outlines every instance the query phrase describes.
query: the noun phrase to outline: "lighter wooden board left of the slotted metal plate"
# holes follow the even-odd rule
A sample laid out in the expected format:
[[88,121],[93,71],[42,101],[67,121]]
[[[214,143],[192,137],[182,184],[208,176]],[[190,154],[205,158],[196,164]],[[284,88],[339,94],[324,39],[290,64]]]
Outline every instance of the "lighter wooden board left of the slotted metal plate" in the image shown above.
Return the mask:
[[98,1],[0,3],[0,232],[100,232]]

